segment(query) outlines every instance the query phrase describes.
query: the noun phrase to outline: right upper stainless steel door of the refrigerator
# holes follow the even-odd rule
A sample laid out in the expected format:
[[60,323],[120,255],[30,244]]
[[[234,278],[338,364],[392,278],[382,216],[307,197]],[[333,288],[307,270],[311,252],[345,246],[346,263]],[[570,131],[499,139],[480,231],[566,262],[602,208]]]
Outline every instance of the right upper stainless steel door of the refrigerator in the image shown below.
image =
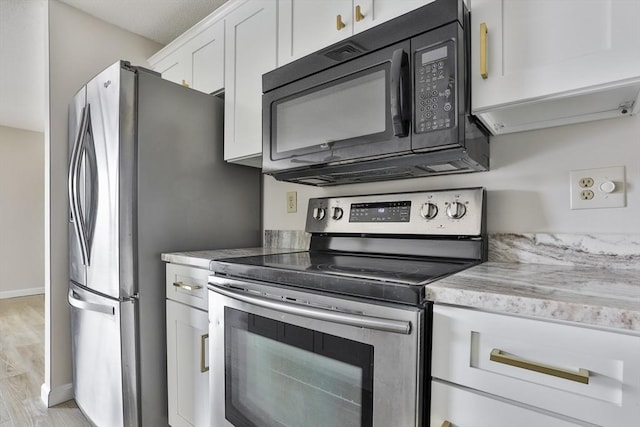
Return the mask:
[[[120,62],[87,83],[89,265],[86,286],[114,298],[134,291],[134,74]],[[93,156],[93,157],[91,157]]]

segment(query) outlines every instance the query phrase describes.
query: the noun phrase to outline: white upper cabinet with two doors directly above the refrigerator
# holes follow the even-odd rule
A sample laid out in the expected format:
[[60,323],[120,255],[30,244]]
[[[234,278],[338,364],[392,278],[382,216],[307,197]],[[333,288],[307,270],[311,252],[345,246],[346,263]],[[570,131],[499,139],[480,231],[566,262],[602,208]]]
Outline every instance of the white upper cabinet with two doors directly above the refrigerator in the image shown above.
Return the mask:
[[149,59],[166,80],[204,93],[224,88],[224,21],[198,27]]

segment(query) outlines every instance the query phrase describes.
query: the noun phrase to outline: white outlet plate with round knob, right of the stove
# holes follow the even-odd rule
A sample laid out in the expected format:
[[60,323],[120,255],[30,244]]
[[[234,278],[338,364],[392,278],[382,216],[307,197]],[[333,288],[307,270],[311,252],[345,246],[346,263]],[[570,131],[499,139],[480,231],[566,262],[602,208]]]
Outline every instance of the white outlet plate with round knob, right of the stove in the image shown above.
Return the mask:
[[571,171],[569,191],[571,209],[625,207],[624,166]]

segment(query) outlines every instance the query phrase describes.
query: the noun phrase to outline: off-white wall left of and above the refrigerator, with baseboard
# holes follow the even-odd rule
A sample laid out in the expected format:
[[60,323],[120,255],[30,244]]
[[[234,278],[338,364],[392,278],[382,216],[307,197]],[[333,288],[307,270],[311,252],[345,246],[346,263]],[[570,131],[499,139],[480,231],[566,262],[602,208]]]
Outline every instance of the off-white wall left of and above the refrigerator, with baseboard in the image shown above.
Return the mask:
[[[119,59],[148,66],[162,46],[59,1],[48,2],[48,110],[45,131],[45,383],[42,398],[72,398],[67,289],[67,111],[80,87]],[[144,17],[142,17],[144,18]]]

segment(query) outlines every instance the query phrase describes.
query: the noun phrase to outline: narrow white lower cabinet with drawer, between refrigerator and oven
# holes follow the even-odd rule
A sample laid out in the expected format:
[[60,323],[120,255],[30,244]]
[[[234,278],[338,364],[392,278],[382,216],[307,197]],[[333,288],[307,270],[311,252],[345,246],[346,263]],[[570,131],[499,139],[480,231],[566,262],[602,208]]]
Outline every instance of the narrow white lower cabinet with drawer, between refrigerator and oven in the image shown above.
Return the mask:
[[209,319],[206,309],[197,308],[207,303],[200,301],[200,295],[206,296],[208,274],[208,270],[167,264],[167,388],[172,427],[210,425]]

